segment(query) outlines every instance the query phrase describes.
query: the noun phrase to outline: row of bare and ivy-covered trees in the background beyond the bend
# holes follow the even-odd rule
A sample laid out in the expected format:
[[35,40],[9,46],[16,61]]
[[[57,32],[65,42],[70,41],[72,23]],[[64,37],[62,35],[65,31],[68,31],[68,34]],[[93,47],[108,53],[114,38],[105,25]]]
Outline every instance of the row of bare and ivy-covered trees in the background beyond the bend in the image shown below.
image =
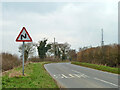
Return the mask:
[[[35,49],[36,48],[36,49]],[[38,54],[38,56],[34,56],[35,53]],[[19,46],[19,52],[22,55],[22,44]],[[75,49],[70,48],[70,44],[67,42],[65,43],[48,43],[47,39],[43,39],[38,41],[37,43],[25,43],[25,53],[24,53],[25,61],[27,60],[38,60],[40,61],[64,61],[64,60],[76,60],[77,59],[77,53]],[[33,61],[34,62],[34,61]]]

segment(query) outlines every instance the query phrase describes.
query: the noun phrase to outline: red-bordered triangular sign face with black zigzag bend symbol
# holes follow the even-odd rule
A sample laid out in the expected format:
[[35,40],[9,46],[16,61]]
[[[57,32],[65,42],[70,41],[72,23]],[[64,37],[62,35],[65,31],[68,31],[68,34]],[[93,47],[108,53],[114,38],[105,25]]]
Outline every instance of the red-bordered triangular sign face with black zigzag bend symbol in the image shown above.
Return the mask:
[[32,42],[32,38],[30,37],[25,27],[22,28],[20,34],[16,39],[16,42]]

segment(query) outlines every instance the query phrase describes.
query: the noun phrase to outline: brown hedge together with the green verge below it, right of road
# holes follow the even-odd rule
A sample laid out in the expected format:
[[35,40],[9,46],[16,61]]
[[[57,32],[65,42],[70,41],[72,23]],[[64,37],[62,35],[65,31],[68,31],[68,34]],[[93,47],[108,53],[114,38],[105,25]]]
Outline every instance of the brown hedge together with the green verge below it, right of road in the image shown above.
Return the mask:
[[72,64],[120,74],[119,51],[118,44],[83,47],[77,53],[77,62]]

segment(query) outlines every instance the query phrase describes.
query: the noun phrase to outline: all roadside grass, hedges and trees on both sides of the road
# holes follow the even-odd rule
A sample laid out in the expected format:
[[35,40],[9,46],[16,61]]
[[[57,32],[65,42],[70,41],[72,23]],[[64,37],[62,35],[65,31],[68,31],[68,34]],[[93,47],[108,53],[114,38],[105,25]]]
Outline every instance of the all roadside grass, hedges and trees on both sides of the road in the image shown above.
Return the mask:
[[[3,88],[58,88],[55,81],[45,71],[47,63],[71,62],[72,64],[120,74],[118,44],[98,47],[83,47],[77,52],[66,43],[48,43],[47,39],[38,43],[25,43],[25,76],[22,76],[22,44],[20,57],[1,53]],[[37,52],[36,52],[37,50]],[[34,56],[34,53],[38,56]],[[31,63],[30,63],[31,62]],[[1,67],[1,64],[0,64]]]

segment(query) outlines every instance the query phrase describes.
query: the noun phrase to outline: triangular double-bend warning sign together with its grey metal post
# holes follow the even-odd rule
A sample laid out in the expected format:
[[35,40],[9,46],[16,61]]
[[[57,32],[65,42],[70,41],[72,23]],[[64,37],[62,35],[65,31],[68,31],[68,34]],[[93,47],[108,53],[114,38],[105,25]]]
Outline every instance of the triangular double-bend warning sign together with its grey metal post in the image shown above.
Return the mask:
[[29,33],[27,32],[26,28],[23,27],[20,34],[18,35],[16,42],[23,42],[22,45],[22,59],[23,59],[23,75],[24,75],[24,49],[25,49],[25,42],[32,42],[32,38],[30,37]]

